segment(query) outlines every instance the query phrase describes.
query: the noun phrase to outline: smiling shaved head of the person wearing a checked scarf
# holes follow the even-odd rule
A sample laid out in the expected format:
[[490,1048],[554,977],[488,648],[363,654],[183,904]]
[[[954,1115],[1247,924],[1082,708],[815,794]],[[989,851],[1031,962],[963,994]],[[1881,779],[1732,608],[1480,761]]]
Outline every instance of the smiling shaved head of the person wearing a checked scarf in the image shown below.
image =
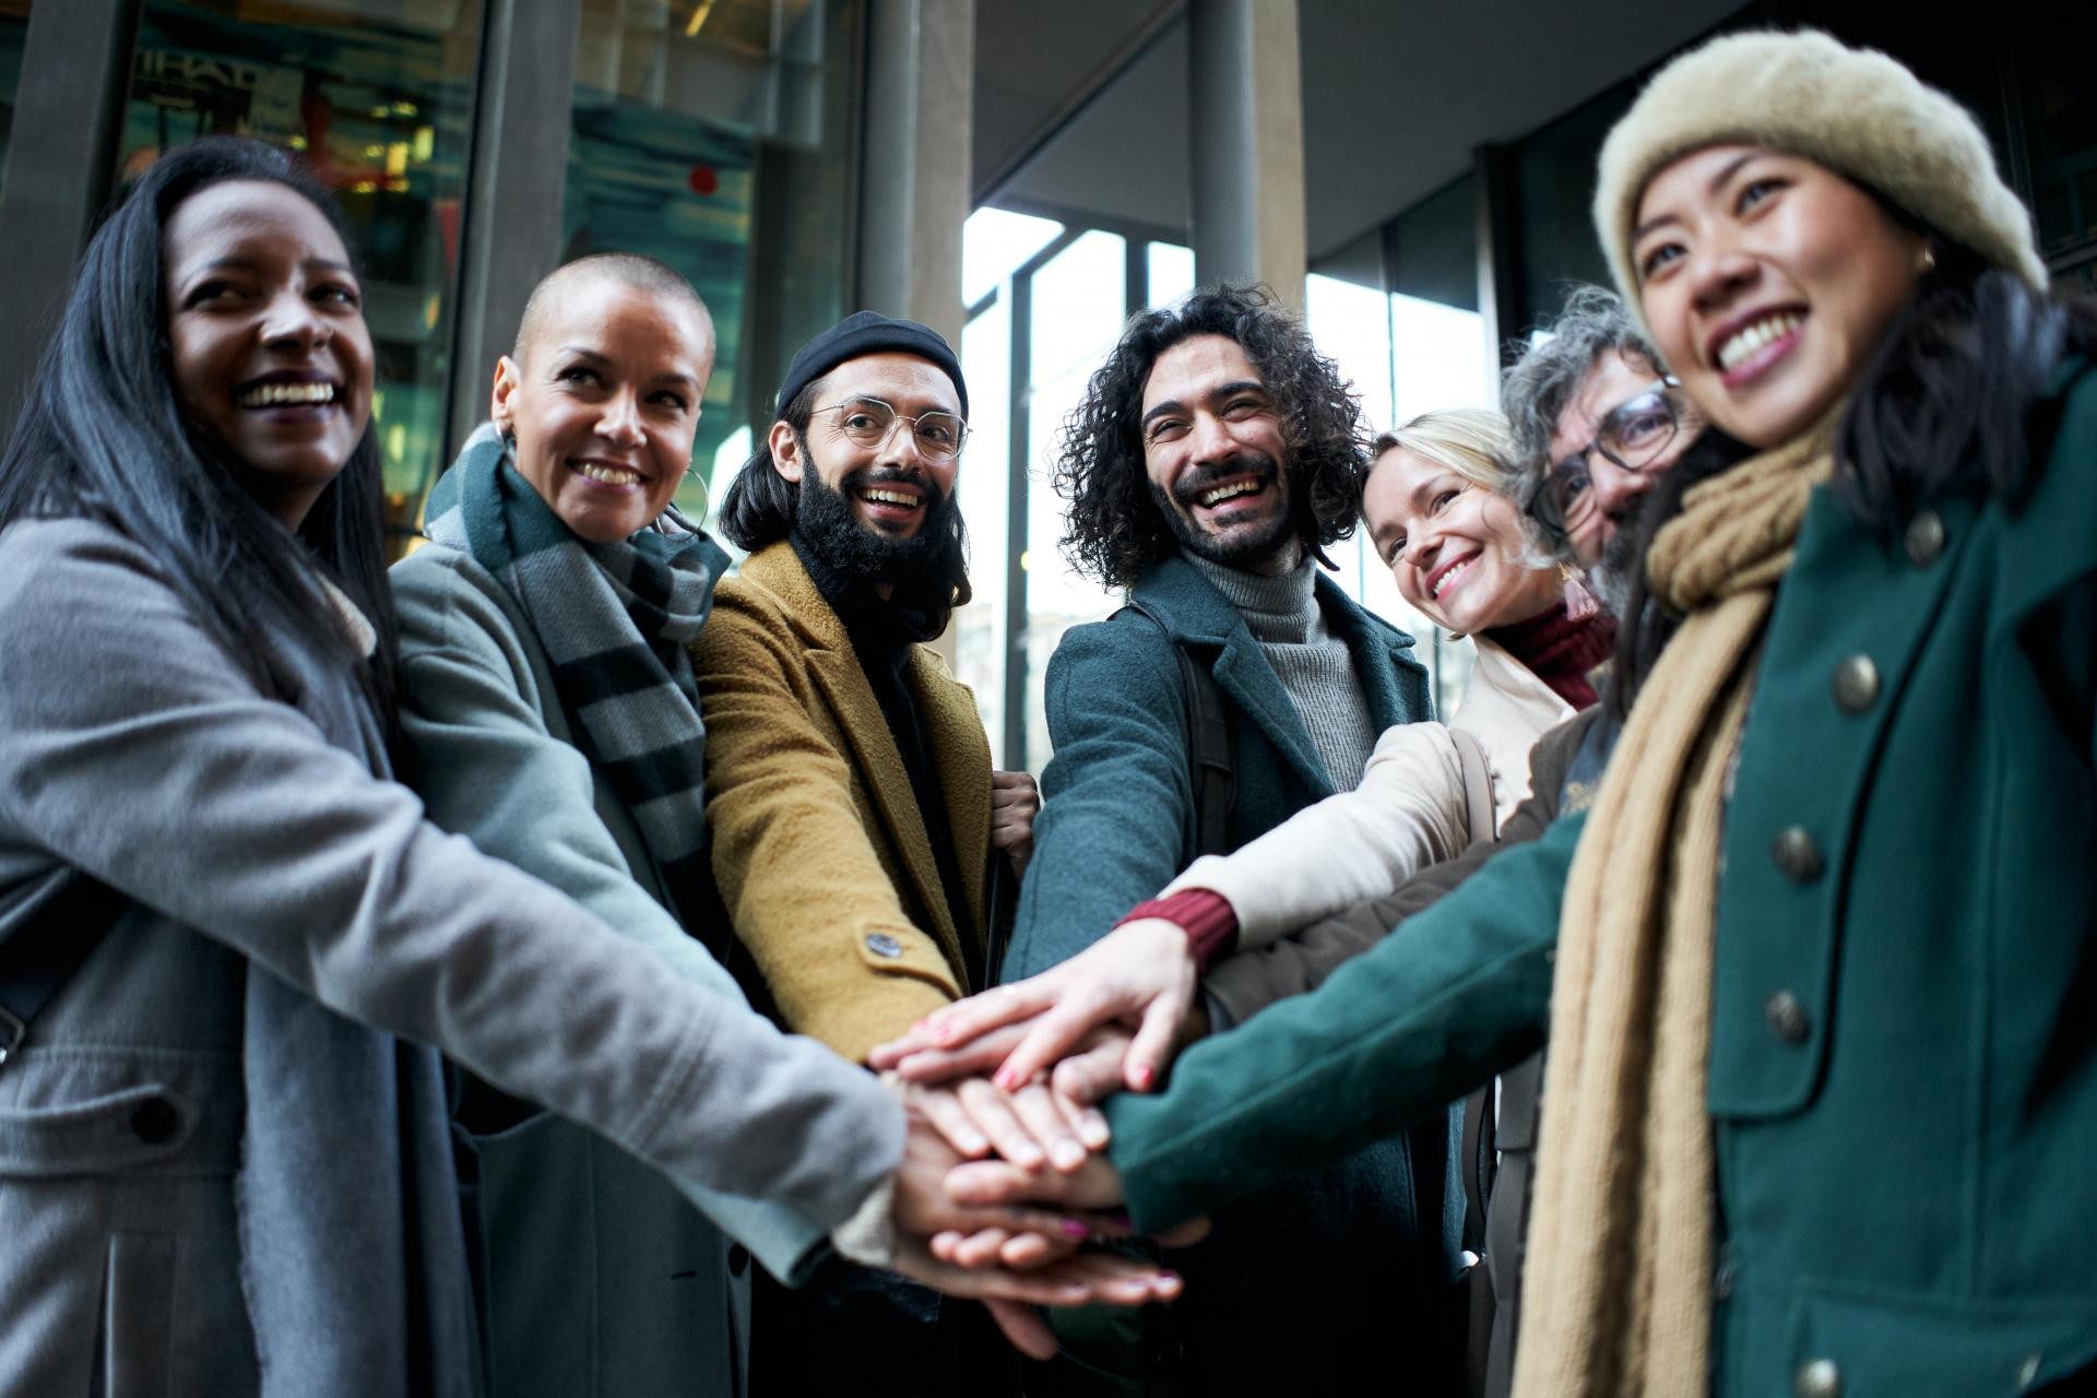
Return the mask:
[[518,474],[591,543],[661,516],[686,467],[713,373],[713,323],[690,300],[610,275],[575,277],[495,367],[491,413]]

